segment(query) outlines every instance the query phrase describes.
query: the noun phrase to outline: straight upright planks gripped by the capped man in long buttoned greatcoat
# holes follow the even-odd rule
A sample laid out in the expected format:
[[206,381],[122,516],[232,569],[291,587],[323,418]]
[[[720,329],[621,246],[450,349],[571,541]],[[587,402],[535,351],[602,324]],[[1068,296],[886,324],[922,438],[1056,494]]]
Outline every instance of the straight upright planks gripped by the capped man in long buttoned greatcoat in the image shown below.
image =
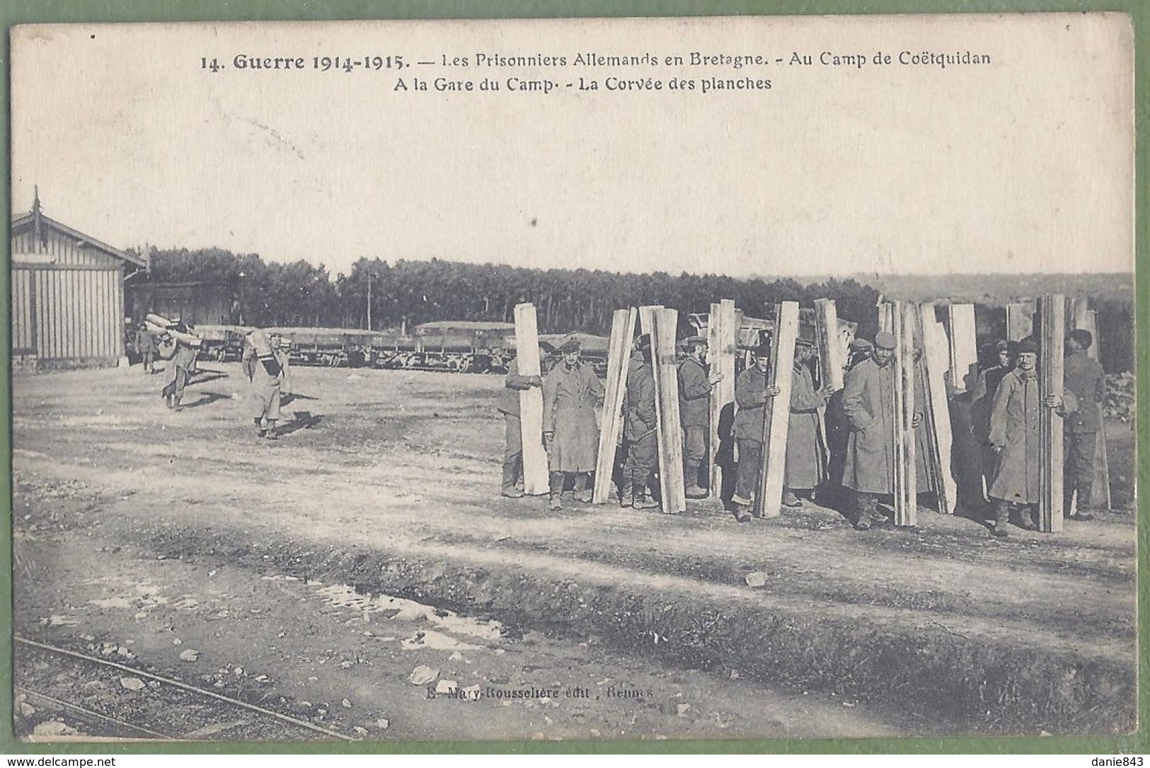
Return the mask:
[[914,307],[892,302],[895,333],[895,524],[914,525],[918,516],[918,471],[914,451]]

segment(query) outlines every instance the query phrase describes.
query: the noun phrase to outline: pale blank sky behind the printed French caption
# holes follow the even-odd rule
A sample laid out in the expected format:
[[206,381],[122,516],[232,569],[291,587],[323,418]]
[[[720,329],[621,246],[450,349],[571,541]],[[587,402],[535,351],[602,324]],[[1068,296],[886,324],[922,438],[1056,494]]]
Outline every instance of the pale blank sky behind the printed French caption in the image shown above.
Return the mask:
[[[990,63],[899,63],[967,51]],[[321,71],[324,55],[405,68]],[[758,87],[703,93],[711,78]],[[361,256],[739,277],[1133,269],[1120,15],[23,26],[12,115],[13,213],[38,185],[48,216],[121,248],[332,274]]]

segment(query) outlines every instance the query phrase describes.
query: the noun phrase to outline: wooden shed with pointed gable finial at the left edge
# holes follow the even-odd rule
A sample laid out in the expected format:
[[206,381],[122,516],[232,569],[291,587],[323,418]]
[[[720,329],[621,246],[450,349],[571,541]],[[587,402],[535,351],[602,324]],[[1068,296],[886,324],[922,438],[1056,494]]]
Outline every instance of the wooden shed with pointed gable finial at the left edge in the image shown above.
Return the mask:
[[36,367],[116,366],[124,281],[145,260],[32,210],[12,221],[12,356]]

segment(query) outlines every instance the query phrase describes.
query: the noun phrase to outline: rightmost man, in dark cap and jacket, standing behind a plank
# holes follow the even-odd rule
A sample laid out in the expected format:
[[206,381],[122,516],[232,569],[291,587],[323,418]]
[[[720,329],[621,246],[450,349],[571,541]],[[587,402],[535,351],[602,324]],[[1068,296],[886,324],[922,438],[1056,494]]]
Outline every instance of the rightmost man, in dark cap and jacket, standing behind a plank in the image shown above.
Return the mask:
[[[1094,506],[1094,455],[1102,429],[1102,404],[1106,398],[1106,374],[1097,360],[1087,354],[1094,335],[1075,329],[1066,339],[1064,384],[1074,393],[1078,409],[1066,416],[1063,430],[1064,479],[1063,513],[1070,520],[1092,520],[1087,512]],[[1078,492],[1078,512],[1071,514],[1074,493]]]

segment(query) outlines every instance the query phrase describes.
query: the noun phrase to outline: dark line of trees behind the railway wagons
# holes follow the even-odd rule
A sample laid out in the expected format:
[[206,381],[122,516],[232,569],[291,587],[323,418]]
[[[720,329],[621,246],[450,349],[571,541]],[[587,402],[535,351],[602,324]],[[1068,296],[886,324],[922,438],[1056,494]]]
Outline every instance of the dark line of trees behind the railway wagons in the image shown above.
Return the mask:
[[[588,269],[528,269],[432,259],[360,259],[332,276],[306,261],[266,263],[258,254],[220,248],[153,251],[150,279],[202,282],[230,292],[232,322],[251,325],[396,328],[437,320],[514,322],[516,304],[530,301],[540,332],[606,335],[615,309],[662,305],[688,313],[734,299],[747,315],[769,317],[779,301],[813,306],[836,299],[844,320],[872,323],[877,291],[853,279],[800,284],[726,275],[618,274]],[[370,316],[370,323],[369,323]]]

